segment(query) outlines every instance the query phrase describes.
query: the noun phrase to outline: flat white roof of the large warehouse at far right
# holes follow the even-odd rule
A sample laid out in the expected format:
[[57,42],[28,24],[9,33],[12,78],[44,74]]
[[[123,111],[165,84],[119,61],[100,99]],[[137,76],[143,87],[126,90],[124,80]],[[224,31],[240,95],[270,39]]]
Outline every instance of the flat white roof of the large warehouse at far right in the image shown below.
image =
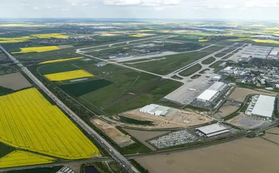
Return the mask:
[[274,110],[275,97],[260,95],[252,114],[271,118]]

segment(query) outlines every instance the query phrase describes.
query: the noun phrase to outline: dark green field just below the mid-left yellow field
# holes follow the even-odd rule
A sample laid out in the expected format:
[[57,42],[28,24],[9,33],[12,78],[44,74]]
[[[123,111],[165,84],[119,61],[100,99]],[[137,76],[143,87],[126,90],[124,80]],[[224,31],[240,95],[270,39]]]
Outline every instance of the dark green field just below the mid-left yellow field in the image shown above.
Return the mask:
[[71,96],[80,97],[86,93],[91,93],[103,87],[113,84],[109,80],[90,80],[87,82],[77,82],[74,84],[62,84],[59,86],[63,91]]

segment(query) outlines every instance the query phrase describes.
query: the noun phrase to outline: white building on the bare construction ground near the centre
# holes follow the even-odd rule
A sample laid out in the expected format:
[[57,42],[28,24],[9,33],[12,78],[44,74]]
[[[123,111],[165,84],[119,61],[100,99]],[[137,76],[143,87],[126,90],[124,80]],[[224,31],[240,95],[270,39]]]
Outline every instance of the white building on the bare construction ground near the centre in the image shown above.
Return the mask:
[[165,107],[161,105],[146,105],[140,109],[140,112],[155,115],[155,116],[166,116],[169,112],[172,111],[172,108]]

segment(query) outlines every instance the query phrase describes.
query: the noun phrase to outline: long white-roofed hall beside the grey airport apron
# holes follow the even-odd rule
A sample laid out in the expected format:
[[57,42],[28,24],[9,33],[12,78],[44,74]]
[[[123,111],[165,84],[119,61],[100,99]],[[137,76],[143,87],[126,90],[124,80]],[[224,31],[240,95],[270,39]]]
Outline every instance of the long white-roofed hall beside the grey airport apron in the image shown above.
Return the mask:
[[197,100],[206,102],[213,100],[220,91],[223,91],[227,87],[227,84],[223,82],[215,82],[208,89],[206,89],[203,93],[197,96]]

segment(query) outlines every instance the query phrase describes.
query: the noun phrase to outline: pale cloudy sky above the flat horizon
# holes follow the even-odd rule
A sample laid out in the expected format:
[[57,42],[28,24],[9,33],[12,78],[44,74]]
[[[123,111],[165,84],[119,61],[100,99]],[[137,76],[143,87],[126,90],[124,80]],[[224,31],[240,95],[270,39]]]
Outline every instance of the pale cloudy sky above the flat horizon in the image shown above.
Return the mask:
[[279,0],[0,0],[0,17],[279,20]]

